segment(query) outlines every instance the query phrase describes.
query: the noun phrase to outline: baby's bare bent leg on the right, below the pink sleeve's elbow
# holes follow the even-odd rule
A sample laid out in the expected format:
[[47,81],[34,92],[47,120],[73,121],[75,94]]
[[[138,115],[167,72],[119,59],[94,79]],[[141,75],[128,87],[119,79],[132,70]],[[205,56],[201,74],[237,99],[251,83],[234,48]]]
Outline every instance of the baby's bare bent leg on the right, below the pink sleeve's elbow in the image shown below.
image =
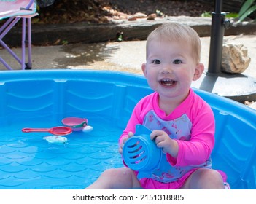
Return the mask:
[[217,170],[199,168],[187,178],[182,189],[224,189],[224,182]]

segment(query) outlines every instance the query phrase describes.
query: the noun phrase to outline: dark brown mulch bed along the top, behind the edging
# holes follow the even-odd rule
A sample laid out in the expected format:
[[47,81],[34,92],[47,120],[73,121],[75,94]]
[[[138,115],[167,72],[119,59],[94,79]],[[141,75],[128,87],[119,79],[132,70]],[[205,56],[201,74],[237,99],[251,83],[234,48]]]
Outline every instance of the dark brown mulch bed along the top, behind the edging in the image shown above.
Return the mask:
[[38,9],[39,16],[34,17],[33,23],[109,23],[112,19],[125,19],[136,12],[198,17],[213,9],[209,2],[194,0],[55,0],[52,5]]

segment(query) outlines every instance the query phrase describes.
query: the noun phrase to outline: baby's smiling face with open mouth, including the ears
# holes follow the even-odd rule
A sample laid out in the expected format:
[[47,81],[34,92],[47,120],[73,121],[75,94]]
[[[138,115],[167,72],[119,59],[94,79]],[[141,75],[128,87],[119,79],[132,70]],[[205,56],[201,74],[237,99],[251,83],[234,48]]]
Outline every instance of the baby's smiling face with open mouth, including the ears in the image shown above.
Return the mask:
[[168,97],[186,97],[198,66],[192,53],[187,42],[149,42],[142,71],[152,90]]

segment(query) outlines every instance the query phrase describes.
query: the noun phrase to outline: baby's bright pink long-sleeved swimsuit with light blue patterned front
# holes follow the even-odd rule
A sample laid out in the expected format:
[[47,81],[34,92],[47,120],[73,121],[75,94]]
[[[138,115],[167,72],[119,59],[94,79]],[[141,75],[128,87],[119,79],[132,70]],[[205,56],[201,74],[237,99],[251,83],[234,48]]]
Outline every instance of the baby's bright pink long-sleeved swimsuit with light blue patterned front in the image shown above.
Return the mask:
[[177,189],[198,168],[212,168],[210,155],[214,148],[214,114],[192,89],[185,101],[169,115],[160,109],[158,99],[158,93],[152,93],[136,104],[119,142],[128,132],[134,133],[137,124],[150,130],[164,130],[177,140],[177,159],[162,153],[166,164],[156,169],[150,178],[140,179],[141,186],[146,189]]

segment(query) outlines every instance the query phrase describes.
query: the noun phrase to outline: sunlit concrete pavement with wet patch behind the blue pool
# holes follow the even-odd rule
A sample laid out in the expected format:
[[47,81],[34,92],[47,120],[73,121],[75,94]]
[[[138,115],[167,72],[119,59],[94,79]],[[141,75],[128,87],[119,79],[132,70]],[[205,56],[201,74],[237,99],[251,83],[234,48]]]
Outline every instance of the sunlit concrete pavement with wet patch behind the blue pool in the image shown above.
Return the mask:
[[[209,44],[210,37],[201,37],[202,52],[201,62],[204,63],[206,71],[209,62]],[[244,82],[235,81],[234,83],[240,84],[242,90],[238,92],[242,93],[243,90],[247,90],[249,87],[255,87],[256,83],[256,36],[255,35],[240,35],[240,36],[225,36],[224,43],[236,43],[244,44],[248,49],[248,55],[251,58],[251,63],[243,76],[249,76],[252,78],[250,82],[248,80]],[[34,46],[32,47],[32,69],[93,69],[93,70],[109,70],[109,71],[127,71],[136,74],[142,74],[141,63],[145,61],[145,41],[131,41],[131,42],[106,42],[106,43],[77,43],[67,44],[61,46]],[[14,48],[14,52],[20,55],[21,50]],[[15,70],[20,69],[20,65],[10,58],[7,50],[0,50],[1,58],[9,63]],[[7,70],[0,63],[0,70]],[[205,74],[204,74],[205,75]],[[204,77],[204,76],[203,76]],[[203,80],[202,77],[202,80]],[[201,87],[202,80],[193,84],[193,87]],[[221,85],[226,82],[221,82]],[[244,84],[247,84],[244,86]],[[209,83],[206,83],[209,84]],[[230,84],[230,81],[228,81]],[[227,84],[227,85],[228,85]],[[233,90],[233,85],[231,85]],[[219,87],[216,90],[212,90],[213,93],[217,93],[223,87]],[[255,90],[256,93],[256,90]],[[218,94],[218,93],[217,93]],[[247,94],[247,93],[246,93]],[[222,95],[222,93],[219,93]],[[225,96],[225,95],[224,95]],[[248,98],[249,99],[249,98]],[[243,99],[244,100],[244,99]]]

